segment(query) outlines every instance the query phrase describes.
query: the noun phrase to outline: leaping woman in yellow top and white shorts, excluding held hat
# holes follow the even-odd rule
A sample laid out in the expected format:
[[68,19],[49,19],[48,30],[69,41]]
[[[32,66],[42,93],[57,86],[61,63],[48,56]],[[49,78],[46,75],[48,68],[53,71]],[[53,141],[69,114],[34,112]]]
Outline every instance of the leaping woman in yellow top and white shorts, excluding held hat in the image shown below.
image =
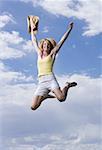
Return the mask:
[[[31,24],[31,39],[38,54],[37,67],[38,67],[38,78],[39,83],[35,91],[32,110],[36,110],[47,98],[57,98],[60,102],[66,100],[69,88],[76,86],[76,82],[66,82],[65,87],[61,90],[56,77],[53,73],[53,65],[56,59],[56,54],[59,52],[61,46],[69,36],[73,23],[69,24],[69,28],[62,36],[58,44],[53,39],[43,39],[39,42],[37,41],[36,35],[34,34],[35,25],[30,17]],[[50,95],[49,92],[52,91],[55,96]]]

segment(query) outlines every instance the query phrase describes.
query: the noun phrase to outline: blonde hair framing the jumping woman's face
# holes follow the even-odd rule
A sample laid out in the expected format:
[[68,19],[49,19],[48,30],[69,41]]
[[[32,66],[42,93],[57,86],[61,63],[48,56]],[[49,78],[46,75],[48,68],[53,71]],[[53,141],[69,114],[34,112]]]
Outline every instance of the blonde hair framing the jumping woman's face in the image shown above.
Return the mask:
[[56,46],[56,41],[53,38],[46,38],[46,39],[41,39],[38,43],[38,46],[40,50],[43,50],[43,43],[44,41],[48,41],[51,47],[51,50]]

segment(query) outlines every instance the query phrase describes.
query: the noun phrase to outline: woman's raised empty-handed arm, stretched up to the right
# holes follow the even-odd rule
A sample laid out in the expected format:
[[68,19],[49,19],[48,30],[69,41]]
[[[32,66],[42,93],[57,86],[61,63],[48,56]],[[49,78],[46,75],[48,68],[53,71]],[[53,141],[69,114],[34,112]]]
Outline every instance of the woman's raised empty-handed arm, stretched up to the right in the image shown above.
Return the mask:
[[65,40],[68,38],[71,30],[73,28],[73,22],[71,22],[69,24],[69,28],[67,29],[67,31],[64,33],[64,35],[62,36],[61,40],[58,42],[58,44],[55,46],[55,48],[52,50],[52,54],[56,54],[58,53],[58,51],[60,50],[61,46],[63,45],[63,43],[65,42]]

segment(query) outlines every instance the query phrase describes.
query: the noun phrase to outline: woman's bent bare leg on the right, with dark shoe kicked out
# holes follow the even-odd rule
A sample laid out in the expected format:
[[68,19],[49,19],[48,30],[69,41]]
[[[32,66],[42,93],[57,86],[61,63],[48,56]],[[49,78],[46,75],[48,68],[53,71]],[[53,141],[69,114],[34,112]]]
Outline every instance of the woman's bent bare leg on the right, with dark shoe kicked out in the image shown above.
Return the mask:
[[76,86],[77,83],[76,82],[71,82],[71,83],[66,83],[66,86],[61,90],[60,88],[55,89],[53,92],[56,95],[57,99],[60,102],[63,102],[66,100],[67,94],[68,94],[68,90],[71,87]]

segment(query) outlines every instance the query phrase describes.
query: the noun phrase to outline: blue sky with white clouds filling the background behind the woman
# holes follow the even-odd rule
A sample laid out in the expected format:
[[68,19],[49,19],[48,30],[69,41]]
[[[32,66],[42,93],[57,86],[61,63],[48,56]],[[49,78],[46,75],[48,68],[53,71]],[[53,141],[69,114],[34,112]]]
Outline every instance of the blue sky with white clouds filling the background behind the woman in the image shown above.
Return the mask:
[[[100,150],[102,0],[0,0],[0,149]],[[76,81],[64,103],[30,110],[37,55],[28,15],[40,18],[38,40],[57,42],[74,22],[54,66],[61,87]]]

